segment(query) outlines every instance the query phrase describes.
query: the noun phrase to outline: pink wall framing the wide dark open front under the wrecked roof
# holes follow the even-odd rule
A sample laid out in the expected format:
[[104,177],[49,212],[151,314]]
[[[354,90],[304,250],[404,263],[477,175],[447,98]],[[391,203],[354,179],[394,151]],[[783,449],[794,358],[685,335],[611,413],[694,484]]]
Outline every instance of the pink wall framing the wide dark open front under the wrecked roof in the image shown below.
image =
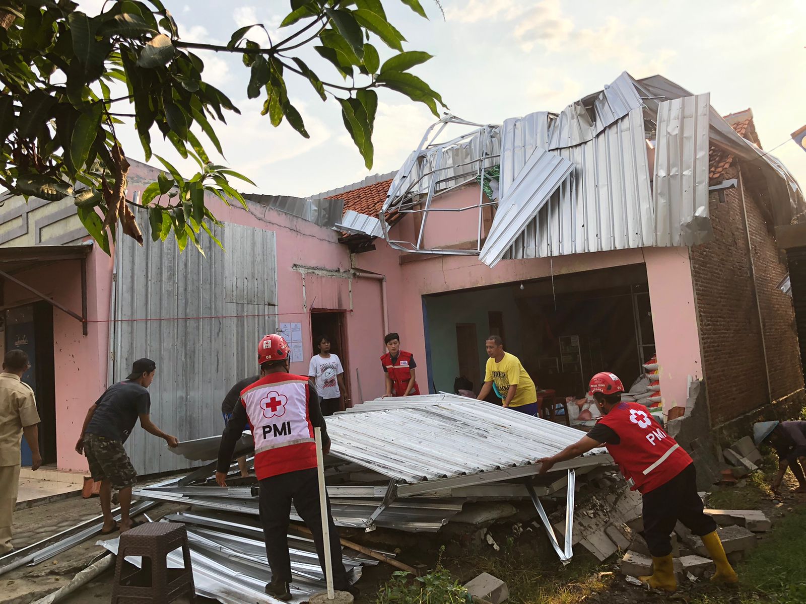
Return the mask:
[[[457,193],[468,196],[468,191],[474,190],[478,195],[478,188],[471,187],[448,193],[445,197],[457,196]],[[393,238],[405,238],[411,234],[411,225],[406,224],[407,221],[412,221],[412,218],[406,217],[393,228]],[[471,235],[475,236],[475,230]],[[466,240],[467,234],[457,234],[455,237],[457,240]],[[376,245],[384,246],[382,242],[376,242]],[[388,246],[384,248],[361,254],[359,259],[362,266],[372,266],[374,271],[393,275],[393,259],[399,257],[397,253],[388,254]],[[422,359],[422,369],[425,369],[426,359],[422,316],[424,295],[540,279],[550,276],[552,270],[555,275],[563,275],[640,264],[645,263],[646,259],[655,346],[662,366],[663,395],[666,399],[664,407],[684,405],[688,395],[688,376],[699,379],[702,375],[691,267],[686,248],[573,254],[556,257],[553,263],[549,259],[505,260],[494,269],[472,256],[409,255],[408,259],[412,261],[402,263],[399,267],[399,279],[389,279],[389,312],[396,317],[391,329],[401,333],[404,347],[414,354],[418,362]],[[418,382],[421,386],[429,383],[425,376]]]

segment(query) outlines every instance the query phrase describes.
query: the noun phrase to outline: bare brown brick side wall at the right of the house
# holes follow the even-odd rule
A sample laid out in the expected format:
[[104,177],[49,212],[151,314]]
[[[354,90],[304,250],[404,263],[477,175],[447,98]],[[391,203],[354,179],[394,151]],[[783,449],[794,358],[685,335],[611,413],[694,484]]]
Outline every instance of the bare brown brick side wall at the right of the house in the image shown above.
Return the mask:
[[[725,178],[737,176],[735,168],[731,171]],[[803,387],[791,301],[775,288],[787,269],[779,262],[761,210],[749,192],[745,196],[758,306],[737,189],[725,191],[724,201],[711,196],[714,240],[691,250],[704,379],[715,426],[770,402],[758,308],[773,399]]]

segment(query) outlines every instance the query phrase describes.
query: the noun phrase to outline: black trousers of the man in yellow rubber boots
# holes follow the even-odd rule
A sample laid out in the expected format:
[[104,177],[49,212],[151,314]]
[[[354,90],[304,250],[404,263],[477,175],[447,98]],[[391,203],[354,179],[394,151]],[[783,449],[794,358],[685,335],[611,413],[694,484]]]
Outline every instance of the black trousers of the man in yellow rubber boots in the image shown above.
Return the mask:
[[643,496],[644,539],[652,556],[671,554],[671,532],[679,520],[696,536],[717,530],[717,523],[703,511],[697,494],[694,464],[669,482]]

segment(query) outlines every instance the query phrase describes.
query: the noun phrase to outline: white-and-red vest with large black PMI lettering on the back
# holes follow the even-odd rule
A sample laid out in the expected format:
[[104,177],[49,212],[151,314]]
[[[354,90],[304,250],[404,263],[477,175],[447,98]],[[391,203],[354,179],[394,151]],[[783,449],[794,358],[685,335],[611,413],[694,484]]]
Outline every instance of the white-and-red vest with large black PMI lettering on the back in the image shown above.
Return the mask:
[[258,480],[316,467],[308,399],[308,378],[286,373],[268,374],[241,392]]

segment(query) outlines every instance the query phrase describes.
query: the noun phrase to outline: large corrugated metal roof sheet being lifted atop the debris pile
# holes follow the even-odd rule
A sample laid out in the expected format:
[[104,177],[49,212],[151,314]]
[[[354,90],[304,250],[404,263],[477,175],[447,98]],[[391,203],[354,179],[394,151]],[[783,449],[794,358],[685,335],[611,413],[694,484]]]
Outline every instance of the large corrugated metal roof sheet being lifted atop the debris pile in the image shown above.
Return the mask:
[[501,480],[495,471],[513,468],[537,474],[535,459],[582,436],[575,428],[447,394],[363,403],[329,417],[327,431],[331,455],[409,484],[471,476],[484,482],[483,474]]

